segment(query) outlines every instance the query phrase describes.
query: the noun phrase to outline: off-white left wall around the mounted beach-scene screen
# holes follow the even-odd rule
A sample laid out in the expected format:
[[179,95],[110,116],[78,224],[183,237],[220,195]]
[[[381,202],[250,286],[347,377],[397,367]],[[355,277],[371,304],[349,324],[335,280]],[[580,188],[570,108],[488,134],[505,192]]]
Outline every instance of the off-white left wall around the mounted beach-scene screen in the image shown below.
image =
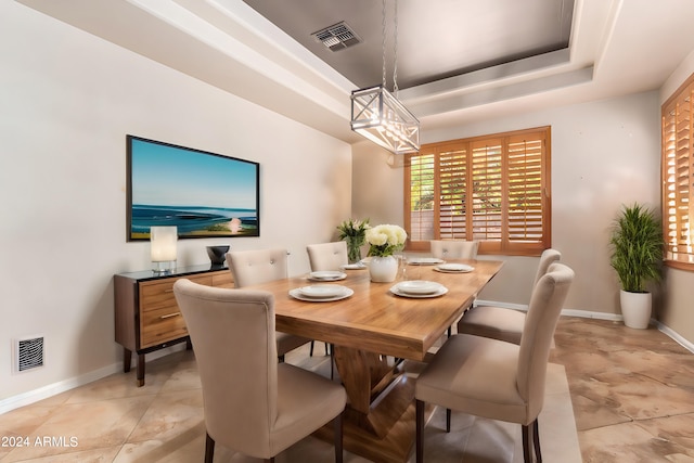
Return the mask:
[[[0,2],[0,400],[117,371],[113,274],[150,268],[126,242],[126,134],[259,162],[261,236],[205,246],[305,246],[350,215],[344,142],[15,2]],[[310,181],[307,181],[309,179]],[[46,366],[12,373],[14,338],[42,335]]]

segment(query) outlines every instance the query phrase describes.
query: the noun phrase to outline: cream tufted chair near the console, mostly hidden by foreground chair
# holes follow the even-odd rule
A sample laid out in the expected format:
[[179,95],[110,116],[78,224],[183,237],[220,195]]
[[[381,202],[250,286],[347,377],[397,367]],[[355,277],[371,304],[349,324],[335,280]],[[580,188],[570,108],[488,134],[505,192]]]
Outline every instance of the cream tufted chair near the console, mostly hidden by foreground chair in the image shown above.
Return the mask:
[[[236,287],[286,278],[286,249],[230,250],[227,266],[234,275]],[[311,339],[288,333],[277,333],[278,356],[284,361],[286,352],[301,347]]]

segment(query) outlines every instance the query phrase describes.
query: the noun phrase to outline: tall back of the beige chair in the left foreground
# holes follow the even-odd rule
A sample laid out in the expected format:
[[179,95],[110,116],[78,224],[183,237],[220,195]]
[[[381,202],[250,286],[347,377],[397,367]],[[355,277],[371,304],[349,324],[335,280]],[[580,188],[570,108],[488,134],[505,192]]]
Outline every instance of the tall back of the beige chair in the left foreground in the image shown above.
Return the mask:
[[274,297],[187,279],[176,282],[174,294],[195,351],[207,434],[255,454],[268,447],[278,415]]

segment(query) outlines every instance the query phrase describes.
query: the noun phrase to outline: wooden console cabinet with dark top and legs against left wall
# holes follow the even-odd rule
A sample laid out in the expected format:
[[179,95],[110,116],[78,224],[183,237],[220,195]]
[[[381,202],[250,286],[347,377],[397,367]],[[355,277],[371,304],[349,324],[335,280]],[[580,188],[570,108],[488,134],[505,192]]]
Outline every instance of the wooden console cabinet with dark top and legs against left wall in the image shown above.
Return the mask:
[[174,283],[185,278],[195,283],[234,287],[231,271],[223,266],[195,266],[167,274],[153,271],[114,275],[116,343],[123,346],[123,371],[130,371],[132,352],[138,355],[138,386],[144,385],[144,355],[190,337],[176,297]]

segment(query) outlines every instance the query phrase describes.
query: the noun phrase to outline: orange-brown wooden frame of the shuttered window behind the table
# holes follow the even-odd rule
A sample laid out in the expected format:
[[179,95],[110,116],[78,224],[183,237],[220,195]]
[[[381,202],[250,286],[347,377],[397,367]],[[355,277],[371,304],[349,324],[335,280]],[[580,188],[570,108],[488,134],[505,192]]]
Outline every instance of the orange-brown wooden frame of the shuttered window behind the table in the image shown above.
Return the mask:
[[[510,226],[509,217],[510,217],[510,205],[509,205],[509,191],[513,188],[511,187],[510,178],[512,177],[511,170],[509,168],[509,159],[510,159],[510,149],[509,146],[517,144],[518,140],[524,140],[527,138],[529,141],[535,141],[535,143],[540,142],[541,145],[539,147],[540,151],[540,191],[536,192],[536,202],[539,203],[539,216],[540,216],[540,226],[541,230],[539,239],[537,241],[527,241],[527,240],[513,240],[510,239],[510,230],[513,228]],[[475,162],[475,156],[473,154],[474,149],[478,149],[479,146],[485,145],[485,143],[500,143],[500,156],[501,156],[501,182],[499,183],[501,187],[500,196],[497,194],[494,197],[500,202],[500,215],[501,215],[501,237],[499,240],[480,240],[479,244],[479,254],[490,254],[490,255],[509,255],[509,256],[539,256],[542,250],[552,247],[552,197],[551,197],[551,126],[536,127],[530,129],[523,130],[514,130],[509,132],[486,134],[479,137],[472,137],[466,139],[458,139],[458,140],[449,140],[437,143],[428,143],[422,145],[419,153],[411,153],[406,155],[404,158],[404,205],[403,205],[403,217],[404,217],[404,228],[408,232],[408,242],[406,245],[406,249],[410,252],[428,252],[429,250],[429,241],[421,240],[414,241],[412,240],[412,158],[417,156],[433,156],[434,167],[428,167],[428,172],[434,172],[433,178],[433,220],[434,220],[434,236],[432,240],[440,240],[441,239],[441,229],[440,229],[440,214],[442,208],[442,195],[441,195],[441,183],[446,183],[446,180],[441,180],[441,171],[440,171],[440,159],[441,156],[449,156],[450,153],[455,153],[458,150],[465,158],[464,163],[466,167],[461,168],[461,171],[464,170],[462,176],[465,176],[465,181],[460,181],[459,183],[464,183],[465,185],[472,184],[472,179],[474,176],[473,163]],[[484,164],[484,163],[483,163]],[[537,164],[537,163],[536,163]],[[475,164],[477,166],[477,164]],[[416,167],[415,167],[416,168]],[[416,171],[415,171],[416,173]],[[516,183],[517,184],[517,183]],[[430,187],[430,185],[429,185]],[[466,188],[466,187],[464,187]],[[464,204],[463,207],[465,214],[464,219],[458,222],[459,227],[462,227],[464,223],[464,237],[459,239],[476,239],[473,226],[473,217],[475,210],[475,204],[473,198],[467,198],[464,195]],[[478,196],[476,196],[478,197]],[[437,200],[438,198],[438,200]],[[466,213],[472,210],[473,213]],[[524,219],[525,220],[525,219]],[[519,223],[519,222],[515,222]],[[525,221],[523,223],[526,223]],[[488,229],[484,229],[488,232]],[[442,239],[447,239],[444,236]]]

